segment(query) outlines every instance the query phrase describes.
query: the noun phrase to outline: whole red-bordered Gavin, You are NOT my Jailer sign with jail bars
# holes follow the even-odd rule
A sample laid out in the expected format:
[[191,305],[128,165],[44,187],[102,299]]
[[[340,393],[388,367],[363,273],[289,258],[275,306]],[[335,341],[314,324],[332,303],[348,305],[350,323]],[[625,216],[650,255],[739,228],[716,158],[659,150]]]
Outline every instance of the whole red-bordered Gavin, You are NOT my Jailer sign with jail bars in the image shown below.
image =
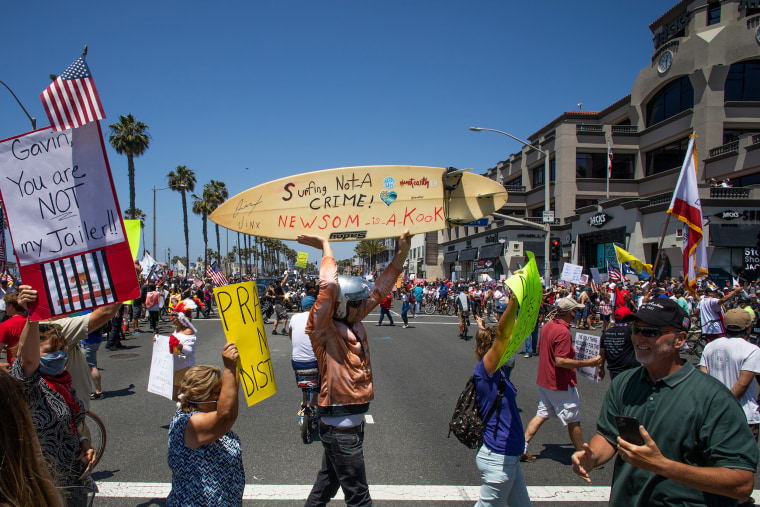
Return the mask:
[[138,297],[98,122],[0,141],[0,196],[33,319]]

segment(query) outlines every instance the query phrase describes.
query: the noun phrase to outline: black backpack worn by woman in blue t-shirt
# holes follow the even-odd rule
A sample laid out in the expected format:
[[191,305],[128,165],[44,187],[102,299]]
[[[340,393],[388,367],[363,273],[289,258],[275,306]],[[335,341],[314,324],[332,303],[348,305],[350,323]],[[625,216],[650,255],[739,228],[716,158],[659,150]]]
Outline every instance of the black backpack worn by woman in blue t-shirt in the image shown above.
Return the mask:
[[[499,377],[499,393],[496,397],[496,402],[491,406],[491,410],[488,411],[488,414],[483,419],[480,417],[480,408],[475,396],[475,376],[473,375],[467,381],[464,391],[462,391],[462,394],[459,395],[459,400],[457,400],[454,415],[451,416],[448,438],[451,438],[451,434],[454,433],[454,436],[470,449],[478,449],[483,445],[483,432],[486,429],[486,423],[496,410],[501,410],[501,400],[504,397],[504,392],[507,390],[507,381],[504,378],[504,373],[501,369],[498,371],[501,375]],[[494,436],[496,436],[498,426],[497,424],[494,427]]]

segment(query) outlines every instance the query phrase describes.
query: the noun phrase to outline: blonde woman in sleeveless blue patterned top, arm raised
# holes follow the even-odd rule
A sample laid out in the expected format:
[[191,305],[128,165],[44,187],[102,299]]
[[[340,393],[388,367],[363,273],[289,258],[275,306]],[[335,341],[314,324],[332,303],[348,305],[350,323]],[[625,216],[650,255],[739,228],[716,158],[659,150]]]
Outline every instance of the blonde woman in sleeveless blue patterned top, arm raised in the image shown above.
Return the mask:
[[193,366],[180,386],[180,407],[169,426],[172,491],[166,505],[242,505],[245,471],[238,415],[238,350],[222,349],[224,376],[213,366]]

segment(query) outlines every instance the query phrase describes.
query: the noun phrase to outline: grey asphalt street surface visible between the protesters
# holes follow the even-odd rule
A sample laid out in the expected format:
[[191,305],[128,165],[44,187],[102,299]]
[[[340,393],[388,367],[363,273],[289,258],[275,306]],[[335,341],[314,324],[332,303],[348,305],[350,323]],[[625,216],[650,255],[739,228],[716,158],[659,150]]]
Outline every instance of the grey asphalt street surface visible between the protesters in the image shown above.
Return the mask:
[[[401,318],[396,314],[399,307],[400,303],[394,303],[396,325],[393,327],[375,327],[377,314],[370,315],[364,322],[370,337],[375,382],[375,400],[369,412],[373,424],[367,425],[365,438],[367,474],[370,485],[389,486],[390,491],[384,496],[387,500],[378,499],[375,503],[440,505],[442,499],[430,499],[427,491],[432,486],[448,486],[447,491],[461,490],[464,496],[456,496],[459,501],[446,502],[446,505],[472,505],[474,499],[461,499],[471,498],[467,495],[473,491],[477,495],[480,477],[475,465],[476,451],[467,449],[454,437],[447,438],[447,432],[456,400],[476,364],[472,339],[476,326],[470,327],[468,340],[457,337],[455,317],[421,315],[410,319],[408,329],[402,329]],[[221,322],[200,319],[195,325],[198,364],[221,366],[221,348],[225,341]],[[147,329],[147,323],[143,327]],[[267,331],[270,330],[271,325],[267,326]],[[162,324],[162,332],[170,331],[170,324]],[[166,463],[167,431],[176,408],[173,402],[147,392],[152,335],[143,333],[130,337],[124,344],[128,347],[125,350],[101,349],[99,353],[106,398],[94,401],[92,409],[107,426],[108,446],[94,478],[101,484],[104,495],[112,496],[98,497],[95,505],[164,505],[162,496],[171,483]],[[288,338],[270,334],[269,347],[277,393],[252,407],[247,407],[241,397],[234,430],[242,440],[246,484],[265,492],[272,490],[273,485],[297,485],[298,488],[286,488],[296,495],[293,499],[275,500],[273,498],[281,497],[264,493],[263,497],[247,500],[245,504],[303,505],[319,468],[322,448],[318,437],[309,445],[301,441],[296,414],[301,395],[290,366]],[[526,359],[518,355],[512,373],[524,426],[536,410],[537,364],[537,357]],[[578,382],[581,425],[588,441],[609,380],[597,384],[579,378]],[[611,465],[592,475],[596,497],[569,489],[582,490],[587,485],[572,472],[572,445],[567,430],[558,420],[544,424],[531,442],[530,451],[538,460],[524,463],[523,471],[535,504],[606,505],[606,501],[593,499],[606,498],[603,490],[599,497],[599,487],[609,486]],[[114,493],[117,483],[130,491],[125,495],[134,495],[133,486],[137,483],[158,483],[164,489],[148,497],[119,497]],[[412,494],[418,490],[422,493]],[[564,501],[552,500],[557,493],[566,491],[570,493]],[[404,496],[406,492],[409,492],[408,497]],[[343,504],[342,501],[335,503]]]

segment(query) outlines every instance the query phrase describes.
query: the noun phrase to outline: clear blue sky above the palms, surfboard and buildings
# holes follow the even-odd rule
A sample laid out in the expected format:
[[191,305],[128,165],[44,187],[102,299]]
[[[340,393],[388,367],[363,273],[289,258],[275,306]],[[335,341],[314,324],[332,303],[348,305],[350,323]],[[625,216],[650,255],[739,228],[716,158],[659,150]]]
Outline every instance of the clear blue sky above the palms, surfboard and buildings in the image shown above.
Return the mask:
[[[485,172],[564,111],[598,111],[649,64],[649,24],[675,1],[328,0],[13,2],[0,80],[48,125],[39,94],[89,47],[108,118],[133,113],[152,142],[135,160],[137,207],[178,165],[230,195],[269,180],[378,164]],[[30,130],[0,88],[0,138]],[[108,157],[122,209],[126,157]],[[2,168],[0,168],[0,171]],[[184,255],[179,194],[158,192],[157,255]],[[229,248],[237,235],[230,233]],[[190,257],[202,255],[190,217]],[[209,245],[215,246],[209,237]],[[226,250],[222,234],[222,251]],[[349,257],[354,244],[336,246]],[[297,248],[297,245],[291,245]]]

